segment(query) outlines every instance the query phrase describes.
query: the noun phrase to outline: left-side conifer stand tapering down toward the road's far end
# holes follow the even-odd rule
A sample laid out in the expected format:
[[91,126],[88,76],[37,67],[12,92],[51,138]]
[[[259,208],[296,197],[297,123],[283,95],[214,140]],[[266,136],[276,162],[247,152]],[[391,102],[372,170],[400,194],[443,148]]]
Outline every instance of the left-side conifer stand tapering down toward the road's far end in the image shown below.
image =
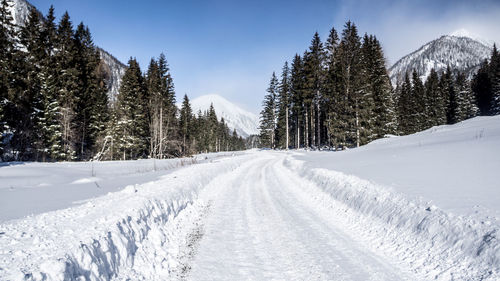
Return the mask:
[[195,114],[185,95],[177,109],[169,71],[163,54],[151,60],[145,74],[135,59],[129,60],[98,159],[161,159],[245,149],[243,139],[217,118],[212,105]]

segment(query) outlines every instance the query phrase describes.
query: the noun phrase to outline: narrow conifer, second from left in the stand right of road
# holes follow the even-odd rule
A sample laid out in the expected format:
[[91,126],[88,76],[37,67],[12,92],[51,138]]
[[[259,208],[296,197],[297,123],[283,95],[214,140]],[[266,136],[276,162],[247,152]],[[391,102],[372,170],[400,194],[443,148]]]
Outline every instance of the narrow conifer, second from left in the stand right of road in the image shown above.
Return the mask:
[[276,124],[276,143],[278,147],[288,149],[290,146],[289,114],[290,114],[290,69],[285,62],[281,73],[278,90],[278,122]]

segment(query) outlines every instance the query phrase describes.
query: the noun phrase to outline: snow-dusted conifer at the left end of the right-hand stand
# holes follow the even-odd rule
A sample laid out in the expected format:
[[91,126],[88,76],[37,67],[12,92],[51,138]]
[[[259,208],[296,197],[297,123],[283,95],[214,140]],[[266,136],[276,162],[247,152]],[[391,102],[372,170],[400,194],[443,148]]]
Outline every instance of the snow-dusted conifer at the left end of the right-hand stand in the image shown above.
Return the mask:
[[276,147],[277,92],[278,79],[276,78],[276,74],[273,72],[271,81],[269,82],[269,88],[267,89],[268,94],[264,97],[264,109],[262,109],[260,113],[261,142],[264,146],[271,149]]

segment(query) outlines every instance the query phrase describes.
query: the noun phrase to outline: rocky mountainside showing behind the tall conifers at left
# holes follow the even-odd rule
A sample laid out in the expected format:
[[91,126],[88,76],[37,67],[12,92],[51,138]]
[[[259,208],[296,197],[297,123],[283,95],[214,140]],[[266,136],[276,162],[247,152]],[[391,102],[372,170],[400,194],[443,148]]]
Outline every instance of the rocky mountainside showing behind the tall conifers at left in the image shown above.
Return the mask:
[[[11,3],[11,14],[14,18],[14,24],[16,24],[17,26],[24,26],[24,24],[28,20],[30,10],[36,8],[25,0],[11,0]],[[123,77],[123,74],[125,74],[125,70],[127,69],[127,67],[105,50],[101,48],[98,48],[98,50],[101,55],[101,59],[104,62],[104,70],[108,74],[106,75],[108,97],[110,102],[114,103],[118,95],[118,90],[120,89],[121,79]]]

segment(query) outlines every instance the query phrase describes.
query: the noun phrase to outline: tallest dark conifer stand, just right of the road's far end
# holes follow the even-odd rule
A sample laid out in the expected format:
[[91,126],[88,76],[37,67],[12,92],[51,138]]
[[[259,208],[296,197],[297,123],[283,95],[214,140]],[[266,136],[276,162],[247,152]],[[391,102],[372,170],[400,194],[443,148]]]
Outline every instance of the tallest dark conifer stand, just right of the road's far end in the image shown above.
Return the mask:
[[359,146],[395,133],[397,122],[384,54],[375,36],[347,22],[323,44],[273,74],[261,112],[261,141],[273,148]]

